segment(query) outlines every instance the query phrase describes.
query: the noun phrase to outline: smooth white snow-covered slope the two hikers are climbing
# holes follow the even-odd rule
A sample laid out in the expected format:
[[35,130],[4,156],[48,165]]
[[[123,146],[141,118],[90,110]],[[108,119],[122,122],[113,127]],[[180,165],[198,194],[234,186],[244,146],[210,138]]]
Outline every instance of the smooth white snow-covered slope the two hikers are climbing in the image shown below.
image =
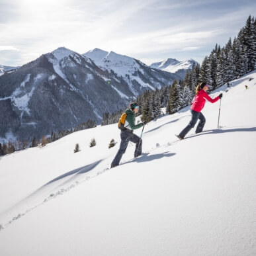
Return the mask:
[[113,169],[116,124],[1,157],[0,254],[256,255],[256,71],[225,91],[210,95],[224,94],[221,128],[220,101],[183,141],[189,107],[162,116],[144,129],[144,154],[130,144]]

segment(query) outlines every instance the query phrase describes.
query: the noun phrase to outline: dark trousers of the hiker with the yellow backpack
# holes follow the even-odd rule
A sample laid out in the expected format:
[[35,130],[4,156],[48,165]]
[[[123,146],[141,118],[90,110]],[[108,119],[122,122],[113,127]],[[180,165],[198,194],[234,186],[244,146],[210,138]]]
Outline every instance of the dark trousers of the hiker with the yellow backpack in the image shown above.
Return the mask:
[[136,144],[134,157],[138,157],[139,155],[142,154],[142,140],[139,136],[137,136],[130,130],[122,130],[120,136],[121,136],[120,148],[118,149],[118,152],[116,153],[116,156],[114,157],[114,160],[111,163],[111,165],[114,165],[114,166],[119,165],[122,155],[123,153],[125,153],[129,142],[133,142]]

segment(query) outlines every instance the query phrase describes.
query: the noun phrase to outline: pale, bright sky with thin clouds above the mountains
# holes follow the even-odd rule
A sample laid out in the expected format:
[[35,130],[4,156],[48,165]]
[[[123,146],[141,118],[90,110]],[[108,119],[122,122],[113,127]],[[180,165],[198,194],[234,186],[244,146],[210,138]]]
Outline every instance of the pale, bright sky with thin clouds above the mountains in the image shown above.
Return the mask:
[[0,64],[24,65],[64,46],[113,51],[147,65],[199,63],[237,36],[254,0],[0,0]]

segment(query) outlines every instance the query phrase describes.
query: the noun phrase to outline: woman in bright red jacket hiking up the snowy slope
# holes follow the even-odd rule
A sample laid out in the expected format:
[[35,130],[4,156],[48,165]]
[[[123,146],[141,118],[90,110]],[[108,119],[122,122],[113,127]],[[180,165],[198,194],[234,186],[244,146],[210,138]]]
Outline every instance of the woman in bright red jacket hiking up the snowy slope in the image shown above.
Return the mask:
[[189,124],[180,132],[177,137],[180,140],[183,140],[186,136],[186,134],[195,126],[197,120],[199,119],[200,122],[198,123],[198,126],[196,127],[196,134],[199,132],[202,132],[202,129],[204,128],[204,124],[206,122],[206,119],[204,115],[201,113],[202,108],[204,108],[204,104],[207,101],[210,101],[210,103],[215,103],[218,101],[218,99],[222,98],[222,93],[220,93],[219,96],[212,99],[206,91],[209,89],[209,85],[202,82],[196,87],[196,96],[194,96],[194,99],[192,100],[192,106],[191,106],[191,114],[192,118]]

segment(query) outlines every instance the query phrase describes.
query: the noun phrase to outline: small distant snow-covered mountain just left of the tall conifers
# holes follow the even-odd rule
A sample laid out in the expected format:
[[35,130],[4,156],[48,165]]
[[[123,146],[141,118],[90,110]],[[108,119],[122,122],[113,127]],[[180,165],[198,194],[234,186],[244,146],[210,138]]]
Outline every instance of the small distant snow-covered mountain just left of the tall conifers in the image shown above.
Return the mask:
[[170,73],[175,73],[176,75],[181,76],[183,79],[187,73],[187,69],[192,69],[193,65],[196,65],[197,62],[195,60],[185,60],[179,61],[176,59],[167,59],[163,62],[155,62],[150,65],[150,67],[161,69],[163,71],[167,71]]

